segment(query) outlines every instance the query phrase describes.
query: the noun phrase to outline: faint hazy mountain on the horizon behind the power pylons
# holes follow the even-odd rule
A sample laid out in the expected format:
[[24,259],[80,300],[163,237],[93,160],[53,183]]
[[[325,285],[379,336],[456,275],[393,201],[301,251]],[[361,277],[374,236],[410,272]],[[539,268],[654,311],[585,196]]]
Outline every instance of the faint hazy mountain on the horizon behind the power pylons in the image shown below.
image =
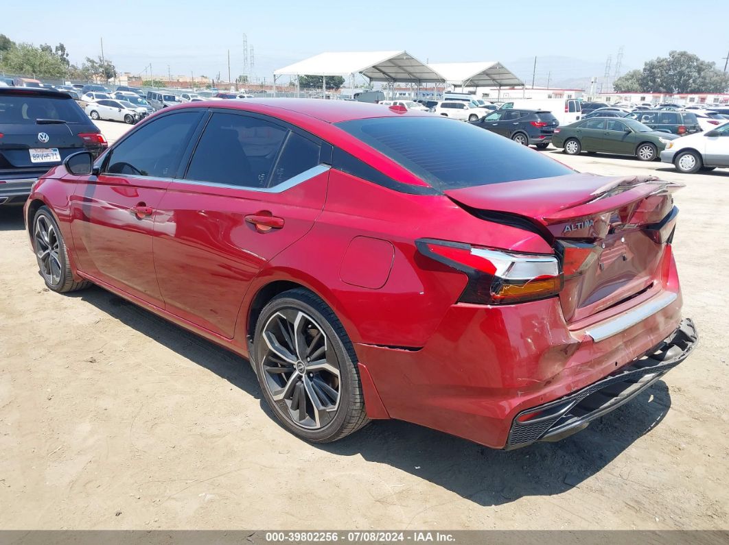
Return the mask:
[[[531,85],[531,73],[534,69],[534,57],[504,61],[504,66],[519,76],[524,83]],[[621,66],[620,73],[631,70],[628,66]],[[605,73],[604,60],[585,60],[575,57],[545,56],[537,57],[537,71],[534,78],[535,85],[550,87],[564,87],[566,89],[590,89],[590,78],[598,78],[597,89]],[[610,67],[610,81],[615,76],[615,58]]]

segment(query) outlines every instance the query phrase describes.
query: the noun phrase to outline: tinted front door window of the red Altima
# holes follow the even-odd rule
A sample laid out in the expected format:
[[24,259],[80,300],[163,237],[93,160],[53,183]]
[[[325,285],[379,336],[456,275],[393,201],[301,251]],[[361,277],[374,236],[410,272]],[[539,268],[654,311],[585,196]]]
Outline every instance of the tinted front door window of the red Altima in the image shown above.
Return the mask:
[[199,119],[198,112],[180,112],[144,125],[112,149],[104,172],[172,178]]

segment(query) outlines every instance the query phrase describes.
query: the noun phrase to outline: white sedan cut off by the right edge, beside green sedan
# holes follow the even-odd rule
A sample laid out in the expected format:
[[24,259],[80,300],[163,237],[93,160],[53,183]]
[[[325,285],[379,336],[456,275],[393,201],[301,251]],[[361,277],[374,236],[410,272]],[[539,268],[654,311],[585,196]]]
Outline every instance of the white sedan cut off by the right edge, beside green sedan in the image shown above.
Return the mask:
[[687,174],[716,167],[729,168],[729,123],[671,140],[660,152],[660,160],[673,163],[676,170]]

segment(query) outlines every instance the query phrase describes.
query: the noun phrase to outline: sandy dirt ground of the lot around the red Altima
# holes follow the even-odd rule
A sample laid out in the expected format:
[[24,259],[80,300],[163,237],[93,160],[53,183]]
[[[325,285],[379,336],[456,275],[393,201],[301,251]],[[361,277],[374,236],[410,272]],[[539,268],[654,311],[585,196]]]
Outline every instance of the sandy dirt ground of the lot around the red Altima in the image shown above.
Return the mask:
[[397,421],[302,442],[247,362],[100,288],[46,290],[0,210],[0,529],[729,528],[729,171],[545,153],[687,184],[674,245],[701,344],[585,431],[512,452]]

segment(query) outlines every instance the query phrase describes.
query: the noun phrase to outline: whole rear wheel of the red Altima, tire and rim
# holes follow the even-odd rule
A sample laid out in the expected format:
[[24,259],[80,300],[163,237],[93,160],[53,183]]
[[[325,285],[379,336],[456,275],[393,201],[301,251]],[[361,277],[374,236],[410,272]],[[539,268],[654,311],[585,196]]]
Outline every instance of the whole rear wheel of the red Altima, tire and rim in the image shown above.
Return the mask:
[[332,442],[368,422],[352,343],[313,293],[289,290],[264,307],[253,354],[263,396],[297,437]]

